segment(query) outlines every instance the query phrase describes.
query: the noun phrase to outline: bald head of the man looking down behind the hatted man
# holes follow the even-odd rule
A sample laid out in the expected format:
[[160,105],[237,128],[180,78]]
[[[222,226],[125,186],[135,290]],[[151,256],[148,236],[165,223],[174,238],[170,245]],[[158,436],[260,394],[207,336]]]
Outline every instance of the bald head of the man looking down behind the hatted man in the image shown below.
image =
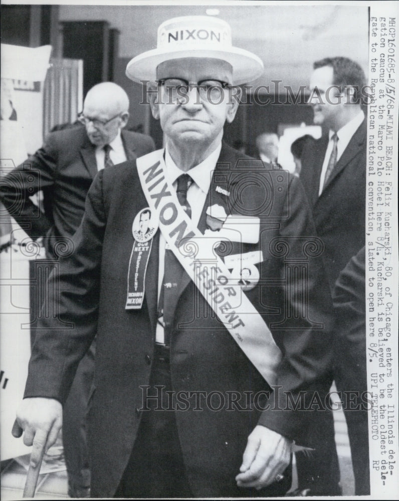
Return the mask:
[[92,87],[83,105],[83,123],[90,141],[96,146],[112,142],[129,119],[129,98],[113,82]]

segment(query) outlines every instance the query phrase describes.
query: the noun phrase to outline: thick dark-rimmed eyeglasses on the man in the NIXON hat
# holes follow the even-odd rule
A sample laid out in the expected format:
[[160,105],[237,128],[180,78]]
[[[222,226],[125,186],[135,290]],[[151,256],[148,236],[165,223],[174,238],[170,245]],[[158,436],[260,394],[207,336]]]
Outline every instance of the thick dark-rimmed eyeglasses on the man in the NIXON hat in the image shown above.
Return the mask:
[[224,90],[231,87],[227,82],[221,80],[201,80],[191,83],[182,78],[163,78],[156,81],[161,85],[168,96],[172,99],[187,99],[188,92],[191,89],[198,89],[199,97],[207,101],[218,103],[224,97]]

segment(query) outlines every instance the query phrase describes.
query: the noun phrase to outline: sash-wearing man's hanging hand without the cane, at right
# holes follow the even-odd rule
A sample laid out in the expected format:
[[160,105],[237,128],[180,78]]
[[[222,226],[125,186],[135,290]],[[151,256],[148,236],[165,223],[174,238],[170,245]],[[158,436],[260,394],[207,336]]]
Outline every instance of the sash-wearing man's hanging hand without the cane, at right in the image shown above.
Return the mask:
[[292,441],[258,425],[248,437],[240,473],[239,487],[261,489],[276,481],[290,463]]

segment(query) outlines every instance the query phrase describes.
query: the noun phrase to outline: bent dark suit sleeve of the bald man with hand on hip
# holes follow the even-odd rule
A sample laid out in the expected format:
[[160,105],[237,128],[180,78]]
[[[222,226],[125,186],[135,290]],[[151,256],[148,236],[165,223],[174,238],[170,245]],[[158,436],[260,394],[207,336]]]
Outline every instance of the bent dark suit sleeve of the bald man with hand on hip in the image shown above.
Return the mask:
[[10,215],[37,239],[46,235],[52,226],[49,217],[40,211],[30,197],[54,185],[58,153],[54,135],[49,134],[43,146],[5,176],[0,185],[0,199]]

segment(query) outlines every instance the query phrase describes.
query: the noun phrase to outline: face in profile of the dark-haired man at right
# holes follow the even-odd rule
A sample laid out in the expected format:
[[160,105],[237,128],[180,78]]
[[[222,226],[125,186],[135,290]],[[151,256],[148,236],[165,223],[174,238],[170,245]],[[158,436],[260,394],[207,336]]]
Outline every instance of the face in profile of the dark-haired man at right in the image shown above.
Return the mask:
[[314,70],[309,88],[311,95],[308,102],[313,107],[313,123],[335,130],[343,100],[339,90],[333,85],[332,67],[323,66]]

